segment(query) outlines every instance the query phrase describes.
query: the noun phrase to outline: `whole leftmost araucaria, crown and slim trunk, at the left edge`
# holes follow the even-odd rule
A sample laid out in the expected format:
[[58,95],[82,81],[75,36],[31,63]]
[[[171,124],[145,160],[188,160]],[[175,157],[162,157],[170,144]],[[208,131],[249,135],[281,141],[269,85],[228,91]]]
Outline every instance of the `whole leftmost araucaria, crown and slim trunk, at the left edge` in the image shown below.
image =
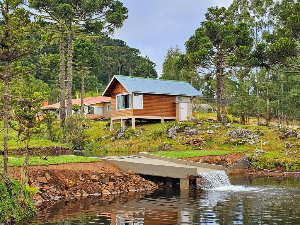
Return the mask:
[[8,152],[8,120],[12,118],[10,108],[10,82],[24,74],[30,73],[34,68],[25,68],[12,64],[26,57],[39,45],[33,38],[37,23],[30,21],[30,14],[20,6],[22,0],[0,1],[0,15],[3,24],[0,26],[0,78],[4,82],[3,109],[0,116],[3,118],[3,155],[4,172],[7,173]]

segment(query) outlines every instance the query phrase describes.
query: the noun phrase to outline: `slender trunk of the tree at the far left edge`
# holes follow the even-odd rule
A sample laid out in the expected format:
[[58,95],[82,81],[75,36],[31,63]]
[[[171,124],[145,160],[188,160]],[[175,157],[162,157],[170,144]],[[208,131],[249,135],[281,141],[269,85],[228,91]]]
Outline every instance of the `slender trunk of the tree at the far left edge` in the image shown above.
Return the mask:
[[3,95],[3,164],[4,173],[8,173],[8,118],[9,118],[9,68],[8,61],[4,62],[4,95]]

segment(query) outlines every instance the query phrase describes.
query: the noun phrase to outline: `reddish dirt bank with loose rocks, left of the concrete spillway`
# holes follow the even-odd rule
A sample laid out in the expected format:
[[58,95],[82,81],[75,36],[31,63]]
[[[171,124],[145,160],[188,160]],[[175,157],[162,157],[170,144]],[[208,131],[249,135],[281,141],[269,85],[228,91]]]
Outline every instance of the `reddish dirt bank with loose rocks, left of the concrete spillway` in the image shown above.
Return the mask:
[[[17,178],[20,167],[10,167],[10,173]],[[30,187],[39,187],[35,195],[39,203],[58,197],[114,194],[158,187],[131,170],[123,172],[103,162],[30,166],[28,183]]]

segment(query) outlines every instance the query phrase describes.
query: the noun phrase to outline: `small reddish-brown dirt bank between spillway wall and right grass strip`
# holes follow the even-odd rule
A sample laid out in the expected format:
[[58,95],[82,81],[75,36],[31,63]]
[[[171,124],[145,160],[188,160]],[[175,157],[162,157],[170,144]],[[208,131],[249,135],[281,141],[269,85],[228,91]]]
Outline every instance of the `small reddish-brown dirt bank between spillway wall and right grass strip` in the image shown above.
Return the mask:
[[[235,164],[238,159],[244,157],[244,154],[241,153],[230,153],[227,155],[208,155],[208,156],[200,156],[200,157],[192,157],[192,158],[182,158],[183,160],[192,161],[192,162],[200,162],[200,163],[209,163],[216,164],[222,166],[230,166]],[[230,163],[231,162],[231,163]]]

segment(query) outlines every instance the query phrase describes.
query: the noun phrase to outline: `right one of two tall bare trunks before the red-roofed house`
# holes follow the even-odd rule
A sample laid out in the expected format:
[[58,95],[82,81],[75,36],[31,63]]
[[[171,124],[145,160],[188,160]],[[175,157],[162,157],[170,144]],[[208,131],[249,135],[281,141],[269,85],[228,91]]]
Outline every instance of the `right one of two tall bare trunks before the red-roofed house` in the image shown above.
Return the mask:
[[72,61],[73,61],[73,35],[69,34],[67,56],[67,112],[72,116]]

